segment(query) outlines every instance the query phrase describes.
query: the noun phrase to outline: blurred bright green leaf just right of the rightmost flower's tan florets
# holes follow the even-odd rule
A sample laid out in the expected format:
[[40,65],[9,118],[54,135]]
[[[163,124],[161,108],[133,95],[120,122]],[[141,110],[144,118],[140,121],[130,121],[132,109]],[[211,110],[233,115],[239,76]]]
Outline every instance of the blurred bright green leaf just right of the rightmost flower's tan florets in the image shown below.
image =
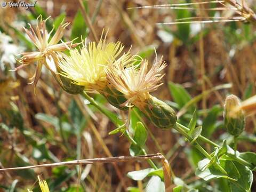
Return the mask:
[[[169,89],[172,95],[173,100],[179,105],[180,108],[186,105],[187,102],[191,100],[190,94],[187,90],[180,84],[175,84],[173,82],[169,82]],[[194,110],[194,106],[189,107],[190,111]]]

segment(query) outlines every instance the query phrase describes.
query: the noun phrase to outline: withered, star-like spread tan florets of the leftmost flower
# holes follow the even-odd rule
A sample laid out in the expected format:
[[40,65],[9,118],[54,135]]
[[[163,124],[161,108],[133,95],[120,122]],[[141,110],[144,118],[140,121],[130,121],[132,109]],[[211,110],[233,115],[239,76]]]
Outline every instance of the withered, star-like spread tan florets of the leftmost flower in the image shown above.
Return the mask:
[[34,52],[23,52],[21,53],[22,57],[20,62],[21,66],[15,68],[18,70],[23,68],[30,63],[38,62],[36,72],[32,78],[34,78],[33,82],[36,86],[39,76],[41,74],[42,66],[45,65],[47,69],[49,69],[52,73],[57,74],[57,67],[60,58],[62,57],[61,52],[69,49],[69,47],[74,47],[77,44],[72,44],[72,41],[66,43],[59,43],[61,38],[63,37],[64,30],[69,25],[69,23],[61,23],[58,27],[56,33],[50,38],[50,35],[53,29],[48,33],[46,29],[46,20],[41,20],[38,22],[39,17],[36,21],[36,27],[33,28],[30,26],[30,29],[24,28],[26,34],[29,36],[31,41],[35,44],[37,51]]

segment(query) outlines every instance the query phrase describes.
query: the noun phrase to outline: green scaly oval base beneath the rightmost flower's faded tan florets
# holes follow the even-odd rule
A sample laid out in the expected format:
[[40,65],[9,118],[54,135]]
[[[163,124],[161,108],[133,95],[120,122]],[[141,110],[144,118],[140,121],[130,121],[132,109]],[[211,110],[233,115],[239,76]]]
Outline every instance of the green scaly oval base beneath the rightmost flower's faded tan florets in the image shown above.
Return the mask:
[[175,111],[165,102],[151,95],[143,105],[137,105],[137,107],[160,129],[171,129],[177,121]]

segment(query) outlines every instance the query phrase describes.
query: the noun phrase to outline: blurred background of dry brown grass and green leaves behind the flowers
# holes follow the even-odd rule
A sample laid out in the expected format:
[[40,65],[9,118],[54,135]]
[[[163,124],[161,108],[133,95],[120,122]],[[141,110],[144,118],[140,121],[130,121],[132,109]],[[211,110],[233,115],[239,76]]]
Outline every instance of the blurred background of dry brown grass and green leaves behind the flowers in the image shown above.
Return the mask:
[[[185,2],[190,1],[90,0],[83,3],[98,37],[105,29],[108,42],[121,41],[125,51],[132,46],[132,53],[147,58],[150,63],[156,58],[154,49],[158,58],[163,56],[167,63],[164,85],[153,95],[177,112],[192,98],[197,98],[186,113],[180,115],[179,121],[187,125],[197,108],[197,123],[203,125],[202,134],[221,143],[231,138],[223,129],[226,95],[232,93],[244,100],[255,94],[255,26],[247,22],[157,24],[190,17],[198,17],[198,21],[200,17],[209,18],[207,20],[237,17],[228,8],[223,11],[202,9],[225,7],[217,3],[189,6],[194,10],[127,9]],[[247,3],[256,9],[253,0]],[[51,15],[46,22],[49,31],[53,26],[55,30],[62,20],[70,22],[63,39],[79,37],[76,40],[79,42],[82,36],[93,41],[78,1],[39,0],[28,10],[8,5],[0,7],[0,165],[14,167],[78,158],[130,156],[130,142],[124,136],[108,135],[115,129],[114,124],[89,103],[81,103],[78,95],[63,91],[49,70],[43,68],[35,91],[28,83],[36,63],[10,71],[20,65],[17,59],[22,51],[35,50],[22,27],[28,28],[28,23],[35,25],[39,15],[44,19]],[[91,96],[119,116],[125,115],[101,95]],[[223,180],[205,182],[195,176],[196,164],[203,157],[185,139],[175,131],[162,131],[146,119],[145,122],[149,130],[148,154],[163,153],[175,175],[199,191],[225,191],[221,190],[225,185]],[[255,125],[254,116],[246,119],[246,131],[238,140],[239,151],[256,151]],[[211,149],[207,145],[206,148]],[[161,162],[156,163],[161,165]],[[126,174],[147,167],[145,162],[83,166],[81,185],[78,185],[79,167],[75,166],[0,172],[0,191],[25,191],[27,188],[39,191],[35,185],[38,174],[46,179],[51,191],[124,191],[127,187],[138,191],[136,187],[144,182],[133,181]],[[255,190],[253,185],[252,191]]]

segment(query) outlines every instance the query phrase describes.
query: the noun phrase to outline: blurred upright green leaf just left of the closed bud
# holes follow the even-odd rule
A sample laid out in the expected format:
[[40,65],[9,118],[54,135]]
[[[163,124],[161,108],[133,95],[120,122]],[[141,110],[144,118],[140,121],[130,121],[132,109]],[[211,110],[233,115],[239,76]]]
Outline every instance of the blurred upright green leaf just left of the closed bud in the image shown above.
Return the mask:
[[215,105],[211,108],[209,114],[205,117],[202,124],[202,135],[209,138],[215,131],[218,125],[218,117],[222,112],[222,108],[219,105]]

